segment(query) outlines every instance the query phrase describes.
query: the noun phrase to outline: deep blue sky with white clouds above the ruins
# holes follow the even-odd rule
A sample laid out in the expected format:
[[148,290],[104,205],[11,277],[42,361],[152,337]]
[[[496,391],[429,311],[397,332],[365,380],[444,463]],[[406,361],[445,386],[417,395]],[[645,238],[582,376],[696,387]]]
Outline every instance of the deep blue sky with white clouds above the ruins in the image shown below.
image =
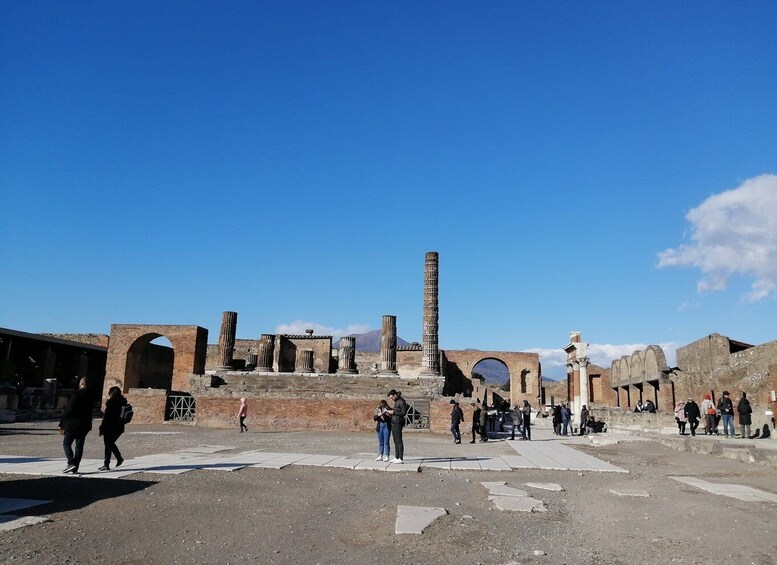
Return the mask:
[[4,2],[0,326],[777,338],[773,2]]

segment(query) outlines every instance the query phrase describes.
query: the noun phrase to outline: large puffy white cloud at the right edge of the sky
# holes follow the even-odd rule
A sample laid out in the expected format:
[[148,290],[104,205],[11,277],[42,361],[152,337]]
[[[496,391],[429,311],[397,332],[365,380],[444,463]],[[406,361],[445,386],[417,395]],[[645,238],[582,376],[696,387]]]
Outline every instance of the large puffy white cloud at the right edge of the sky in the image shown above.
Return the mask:
[[685,217],[693,243],[659,253],[659,268],[699,268],[699,292],[723,290],[738,274],[755,279],[748,300],[777,296],[777,175],[710,196]]

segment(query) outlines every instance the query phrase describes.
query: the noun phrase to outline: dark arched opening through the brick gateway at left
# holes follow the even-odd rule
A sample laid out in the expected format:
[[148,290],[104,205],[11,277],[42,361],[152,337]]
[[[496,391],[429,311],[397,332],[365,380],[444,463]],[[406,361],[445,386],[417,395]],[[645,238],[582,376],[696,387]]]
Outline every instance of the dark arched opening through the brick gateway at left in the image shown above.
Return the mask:
[[170,390],[174,364],[175,350],[167,337],[158,333],[140,336],[127,350],[125,391],[130,388]]

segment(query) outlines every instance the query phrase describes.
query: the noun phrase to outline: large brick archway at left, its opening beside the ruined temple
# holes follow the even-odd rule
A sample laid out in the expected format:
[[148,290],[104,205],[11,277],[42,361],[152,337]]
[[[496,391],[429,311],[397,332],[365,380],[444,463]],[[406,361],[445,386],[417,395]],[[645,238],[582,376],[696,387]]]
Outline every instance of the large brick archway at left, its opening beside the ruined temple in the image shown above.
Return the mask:
[[118,386],[124,392],[138,386],[133,355],[157,337],[166,337],[173,348],[170,390],[189,391],[189,375],[205,373],[208,330],[199,326],[113,324],[108,341],[104,395],[112,386]]

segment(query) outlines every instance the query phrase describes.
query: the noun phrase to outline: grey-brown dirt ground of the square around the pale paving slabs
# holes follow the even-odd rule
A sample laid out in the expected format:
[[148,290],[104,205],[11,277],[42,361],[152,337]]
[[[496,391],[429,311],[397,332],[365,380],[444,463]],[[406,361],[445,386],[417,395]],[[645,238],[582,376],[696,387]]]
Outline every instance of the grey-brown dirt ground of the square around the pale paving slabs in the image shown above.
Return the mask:
[[[204,444],[234,446],[237,452],[359,455],[373,453],[373,435],[132,426],[119,445],[125,457]],[[502,441],[454,446],[445,436],[409,433],[405,443],[407,456],[514,454]],[[0,534],[0,562],[777,562],[777,504],[742,502],[667,478],[693,475],[777,493],[777,469],[652,441],[579,449],[629,474],[290,466],[122,479],[0,475],[0,497],[53,501],[24,511],[49,516],[50,522]],[[85,457],[101,454],[92,433]],[[0,426],[0,455],[60,457],[59,435],[53,423]],[[530,490],[548,511],[502,512],[489,502],[484,481]],[[532,490],[526,482],[554,482],[566,490]],[[619,497],[610,489],[641,489],[650,497]],[[443,507],[448,514],[421,535],[395,535],[397,505]]]

